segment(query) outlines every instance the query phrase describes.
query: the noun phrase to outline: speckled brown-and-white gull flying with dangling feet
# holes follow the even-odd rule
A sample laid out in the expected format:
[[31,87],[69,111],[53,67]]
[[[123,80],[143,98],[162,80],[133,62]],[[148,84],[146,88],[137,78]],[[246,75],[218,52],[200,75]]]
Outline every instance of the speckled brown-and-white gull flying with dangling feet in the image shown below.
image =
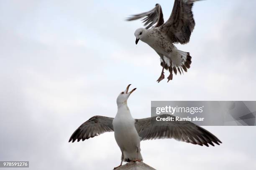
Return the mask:
[[[172,80],[172,71],[177,75],[190,68],[192,57],[189,52],[178,50],[173,43],[186,44],[189,42],[191,32],[195,28],[192,13],[193,3],[198,0],[175,0],[170,18],[164,23],[161,6],[156,6],[145,13],[132,15],[128,21],[143,18],[145,28],[138,28],[134,35],[136,44],[139,40],[146,42],[160,56],[163,67],[161,76],[157,80],[164,79],[164,69],[169,70],[169,80]],[[149,29],[150,28],[150,29]]]

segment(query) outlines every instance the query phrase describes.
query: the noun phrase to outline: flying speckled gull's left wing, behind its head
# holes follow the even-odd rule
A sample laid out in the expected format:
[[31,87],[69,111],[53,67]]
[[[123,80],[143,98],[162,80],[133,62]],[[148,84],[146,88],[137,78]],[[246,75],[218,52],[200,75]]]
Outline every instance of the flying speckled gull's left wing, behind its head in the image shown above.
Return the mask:
[[[144,26],[146,26],[146,29],[150,27],[159,27],[164,24],[164,16],[162,13],[162,8],[159,4],[156,4],[156,6],[152,10],[146,13],[132,15],[131,17],[127,18],[127,20],[128,21],[137,20],[143,17],[145,18],[142,20],[143,21],[142,23],[144,23]],[[153,26],[155,23],[156,25]]]

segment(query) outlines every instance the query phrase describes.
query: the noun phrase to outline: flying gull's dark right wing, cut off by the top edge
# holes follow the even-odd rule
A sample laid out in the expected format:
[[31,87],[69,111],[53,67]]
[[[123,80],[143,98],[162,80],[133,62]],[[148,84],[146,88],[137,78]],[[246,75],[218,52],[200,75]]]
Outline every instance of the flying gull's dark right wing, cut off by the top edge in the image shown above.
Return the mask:
[[163,29],[167,35],[181,44],[189,42],[195,28],[192,6],[198,0],[175,0],[170,18],[164,23]]

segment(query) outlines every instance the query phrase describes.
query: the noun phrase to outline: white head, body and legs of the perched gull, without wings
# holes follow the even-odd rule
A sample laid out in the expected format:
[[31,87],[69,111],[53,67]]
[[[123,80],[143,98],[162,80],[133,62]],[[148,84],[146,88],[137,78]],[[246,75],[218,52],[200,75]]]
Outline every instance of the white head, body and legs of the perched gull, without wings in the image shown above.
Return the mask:
[[131,116],[131,112],[127,106],[129,96],[136,90],[136,88],[134,88],[131,92],[128,92],[130,86],[131,85],[128,85],[127,88],[118,95],[116,100],[118,112],[113,120],[115,140],[122,152],[120,166],[123,160],[125,162],[143,160],[140,148],[141,139],[135,128],[135,120]]

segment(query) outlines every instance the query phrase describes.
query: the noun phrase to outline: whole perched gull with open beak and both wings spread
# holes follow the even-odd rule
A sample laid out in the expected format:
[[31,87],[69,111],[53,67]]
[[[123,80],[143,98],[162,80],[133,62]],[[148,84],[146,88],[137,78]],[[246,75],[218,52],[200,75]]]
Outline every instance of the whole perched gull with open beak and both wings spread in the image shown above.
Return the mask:
[[[91,117],[74,131],[69,142],[74,142],[75,140],[77,142],[84,141],[102,133],[114,131],[116,143],[122,153],[121,163],[118,167],[122,165],[123,161],[143,161],[140,147],[141,140],[174,138],[207,147],[209,146],[208,144],[214,146],[213,143],[220,145],[221,141],[215,135],[189,121],[157,121],[157,116],[133,119],[127,106],[127,100],[136,88],[128,92],[129,87],[130,85],[117,97],[118,112],[115,118],[105,116]],[[173,115],[164,114],[158,116],[161,118],[174,117],[175,120]]]

